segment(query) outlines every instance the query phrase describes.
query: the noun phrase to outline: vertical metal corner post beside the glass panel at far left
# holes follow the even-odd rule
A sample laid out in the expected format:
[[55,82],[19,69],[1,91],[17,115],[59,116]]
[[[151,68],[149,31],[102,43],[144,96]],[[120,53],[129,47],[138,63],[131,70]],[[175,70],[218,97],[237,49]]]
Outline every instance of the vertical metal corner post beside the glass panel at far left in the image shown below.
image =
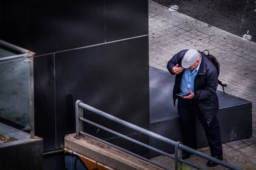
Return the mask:
[[33,57],[26,58],[24,62],[29,62],[29,119],[30,138],[35,138],[35,109],[34,109],[34,63]]

